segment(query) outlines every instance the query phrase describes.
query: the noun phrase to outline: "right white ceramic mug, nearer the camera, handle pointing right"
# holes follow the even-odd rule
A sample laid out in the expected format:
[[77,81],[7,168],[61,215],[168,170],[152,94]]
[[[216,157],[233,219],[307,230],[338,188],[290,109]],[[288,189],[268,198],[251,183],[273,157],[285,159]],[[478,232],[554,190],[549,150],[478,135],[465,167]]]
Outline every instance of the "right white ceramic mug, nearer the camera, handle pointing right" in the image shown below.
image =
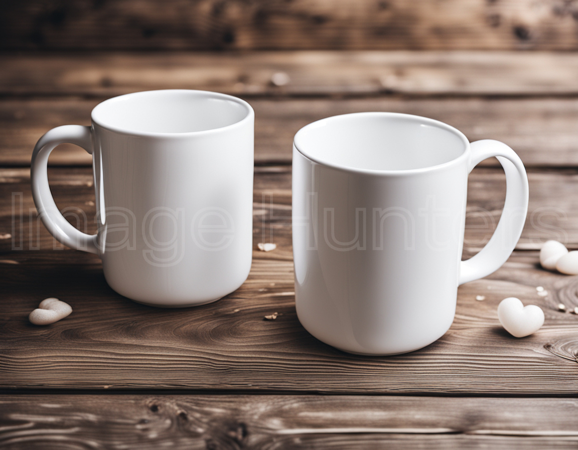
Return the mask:
[[[492,156],[506,172],[502,217],[486,247],[461,261],[468,174]],[[292,191],[299,320],[319,340],[368,355],[410,352],[446,333],[458,285],[506,261],[528,209],[510,147],[385,112],[299,130]]]

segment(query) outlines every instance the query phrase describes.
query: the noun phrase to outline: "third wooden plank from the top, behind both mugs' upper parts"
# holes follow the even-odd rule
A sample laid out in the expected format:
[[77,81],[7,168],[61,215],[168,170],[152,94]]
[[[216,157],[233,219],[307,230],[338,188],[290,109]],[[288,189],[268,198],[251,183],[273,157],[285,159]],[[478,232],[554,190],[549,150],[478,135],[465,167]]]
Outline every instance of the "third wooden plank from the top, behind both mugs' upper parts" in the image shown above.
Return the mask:
[[[472,141],[498,139],[512,146],[527,167],[578,166],[578,99],[499,98],[250,98],[255,109],[257,164],[291,162],[295,132],[314,120],[362,111],[432,117],[463,131]],[[99,99],[3,99],[0,101],[0,165],[29,165],[42,134],[64,124],[90,124]],[[62,145],[51,164],[90,165],[79,147]],[[486,165],[498,165],[488,160]]]

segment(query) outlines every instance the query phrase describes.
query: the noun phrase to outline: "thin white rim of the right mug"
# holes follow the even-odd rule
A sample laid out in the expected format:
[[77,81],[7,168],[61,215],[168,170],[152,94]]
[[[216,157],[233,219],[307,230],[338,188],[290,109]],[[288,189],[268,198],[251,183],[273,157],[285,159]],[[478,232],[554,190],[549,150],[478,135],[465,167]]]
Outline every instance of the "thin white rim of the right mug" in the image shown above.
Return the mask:
[[[335,164],[335,163],[332,163],[331,161],[325,161],[325,160],[321,160],[320,158],[316,158],[316,157],[310,155],[309,153],[307,153],[305,150],[303,150],[302,142],[299,142],[299,141],[301,141],[301,135],[305,132],[305,130],[307,128],[319,126],[320,123],[334,121],[338,117],[345,117],[345,116],[381,116],[381,117],[388,117],[388,118],[401,117],[403,119],[410,119],[410,120],[416,121],[420,124],[425,123],[425,124],[428,124],[431,126],[442,128],[443,130],[446,130],[446,131],[453,133],[458,138],[460,138],[462,143],[464,143],[464,149],[460,155],[458,155],[457,157],[455,157],[449,161],[446,161],[445,163],[442,163],[442,164],[436,164],[436,165],[431,165],[428,167],[421,167],[421,168],[416,168],[416,169],[398,169],[398,170],[362,169],[362,168],[357,168],[357,167],[350,167],[350,166],[343,165],[343,164]],[[424,172],[432,172],[432,171],[436,171],[438,169],[443,169],[445,167],[449,167],[450,165],[458,164],[462,160],[468,159],[468,157],[469,157],[469,151],[468,150],[470,148],[470,142],[468,141],[468,138],[465,137],[464,133],[462,133],[460,130],[458,130],[455,127],[452,127],[451,125],[448,125],[447,123],[439,121],[439,120],[429,119],[429,117],[417,116],[417,115],[413,115],[413,114],[385,112],[385,111],[373,111],[373,112],[357,112],[357,113],[340,114],[340,115],[336,115],[336,116],[325,117],[324,119],[320,119],[320,120],[316,120],[314,122],[311,122],[311,123],[307,124],[306,126],[302,127],[299,131],[297,131],[297,133],[295,134],[295,137],[293,138],[293,146],[295,147],[295,149],[299,153],[301,153],[302,156],[313,161],[314,163],[323,165],[325,167],[331,167],[333,169],[338,169],[338,170],[344,171],[344,172],[350,172],[353,174],[361,174],[361,175],[413,175],[413,174],[422,174]],[[301,148],[299,148],[300,146],[301,146]]]

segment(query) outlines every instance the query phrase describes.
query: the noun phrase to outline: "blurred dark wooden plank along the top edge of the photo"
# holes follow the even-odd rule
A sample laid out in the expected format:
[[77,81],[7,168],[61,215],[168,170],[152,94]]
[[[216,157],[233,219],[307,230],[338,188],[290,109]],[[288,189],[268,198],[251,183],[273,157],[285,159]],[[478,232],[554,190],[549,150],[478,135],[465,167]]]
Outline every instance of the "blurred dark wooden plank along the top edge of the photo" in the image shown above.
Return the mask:
[[9,1],[0,48],[573,50],[576,12],[532,0]]

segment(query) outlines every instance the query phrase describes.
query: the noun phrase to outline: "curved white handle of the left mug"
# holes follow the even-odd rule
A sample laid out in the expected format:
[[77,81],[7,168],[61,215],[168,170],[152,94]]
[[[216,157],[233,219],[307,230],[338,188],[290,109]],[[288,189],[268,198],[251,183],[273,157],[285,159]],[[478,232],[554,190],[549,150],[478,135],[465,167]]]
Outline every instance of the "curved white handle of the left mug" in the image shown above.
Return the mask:
[[82,233],[73,227],[62,216],[54,203],[48,184],[48,157],[55,146],[61,143],[72,143],[83,147],[92,154],[92,133],[90,127],[80,125],[64,125],[56,127],[43,135],[36,142],[32,152],[30,180],[32,183],[32,198],[42,223],[51,235],[62,244],[83,252],[99,254],[97,235]]

